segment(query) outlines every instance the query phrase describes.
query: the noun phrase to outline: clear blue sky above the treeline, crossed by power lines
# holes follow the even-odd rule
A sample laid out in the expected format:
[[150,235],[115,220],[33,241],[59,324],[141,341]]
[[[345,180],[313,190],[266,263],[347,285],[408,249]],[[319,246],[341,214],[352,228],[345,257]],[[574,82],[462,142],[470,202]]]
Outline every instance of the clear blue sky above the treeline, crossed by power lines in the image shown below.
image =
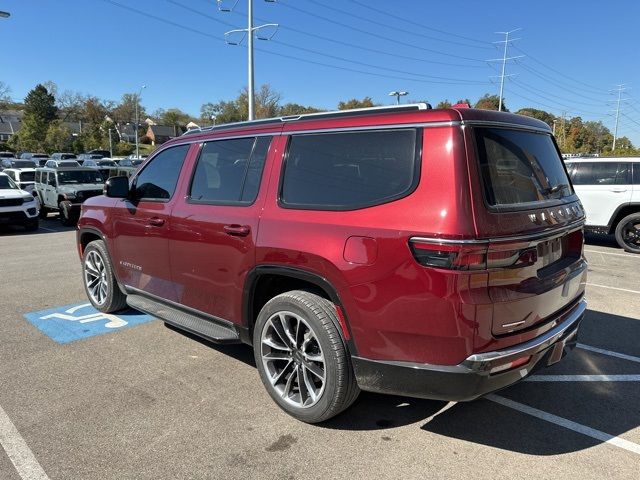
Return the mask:
[[[498,91],[490,78],[498,64],[485,62],[501,56],[491,42],[503,37],[494,32],[520,27],[509,54],[525,56],[507,64],[516,74],[505,87],[511,110],[566,111],[612,129],[609,90],[627,83],[619,134],[640,144],[640,2],[254,3],[256,24],[280,24],[272,41],[256,41],[256,85],[271,84],[284,102],[335,108],[371,96],[391,103],[391,90],[434,105],[475,101]],[[146,84],[148,111],[197,115],[203,103],[234,98],[246,85],[246,49],[223,41],[225,31],[246,26],[246,7],[246,0],[232,13],[212,0],[0,0],[12,15],[0,20],[0,80],[17,99],[46,80],[112,100]]]

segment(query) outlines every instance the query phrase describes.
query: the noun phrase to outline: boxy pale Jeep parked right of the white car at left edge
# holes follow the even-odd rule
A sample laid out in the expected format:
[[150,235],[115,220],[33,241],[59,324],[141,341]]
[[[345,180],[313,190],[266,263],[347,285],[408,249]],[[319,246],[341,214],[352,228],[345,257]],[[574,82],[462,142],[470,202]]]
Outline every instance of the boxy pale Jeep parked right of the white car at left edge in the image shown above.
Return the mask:
[[104,181],[93,168],[58,167],[36,169],[36,192],[40,199],[40,215],[58,211],[63,225],[73,225],[80,205],[87,198],[102,194]]

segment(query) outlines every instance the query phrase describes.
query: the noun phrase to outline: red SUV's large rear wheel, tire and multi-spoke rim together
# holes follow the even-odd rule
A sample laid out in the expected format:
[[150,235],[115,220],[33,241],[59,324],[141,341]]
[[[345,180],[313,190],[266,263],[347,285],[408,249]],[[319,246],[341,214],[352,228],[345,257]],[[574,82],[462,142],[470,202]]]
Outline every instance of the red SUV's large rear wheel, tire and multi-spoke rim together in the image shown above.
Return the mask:
[[253,348],[269,395],[298,420],[328,420],[360,392],[335,305],[318,295],[294,290],[269,300],[258,315]]

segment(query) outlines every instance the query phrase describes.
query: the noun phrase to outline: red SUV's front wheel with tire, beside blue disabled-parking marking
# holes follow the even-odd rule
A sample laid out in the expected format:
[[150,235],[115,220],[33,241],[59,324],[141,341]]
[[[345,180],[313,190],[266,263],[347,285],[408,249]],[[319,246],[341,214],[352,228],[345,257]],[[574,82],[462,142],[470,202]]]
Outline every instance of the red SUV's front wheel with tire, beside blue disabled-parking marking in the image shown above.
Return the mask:
[[117,312],[127,306],[127,296],[122,293],[102,240],[90,242],[82,255],[84,290],[91,305],[104,313]]

